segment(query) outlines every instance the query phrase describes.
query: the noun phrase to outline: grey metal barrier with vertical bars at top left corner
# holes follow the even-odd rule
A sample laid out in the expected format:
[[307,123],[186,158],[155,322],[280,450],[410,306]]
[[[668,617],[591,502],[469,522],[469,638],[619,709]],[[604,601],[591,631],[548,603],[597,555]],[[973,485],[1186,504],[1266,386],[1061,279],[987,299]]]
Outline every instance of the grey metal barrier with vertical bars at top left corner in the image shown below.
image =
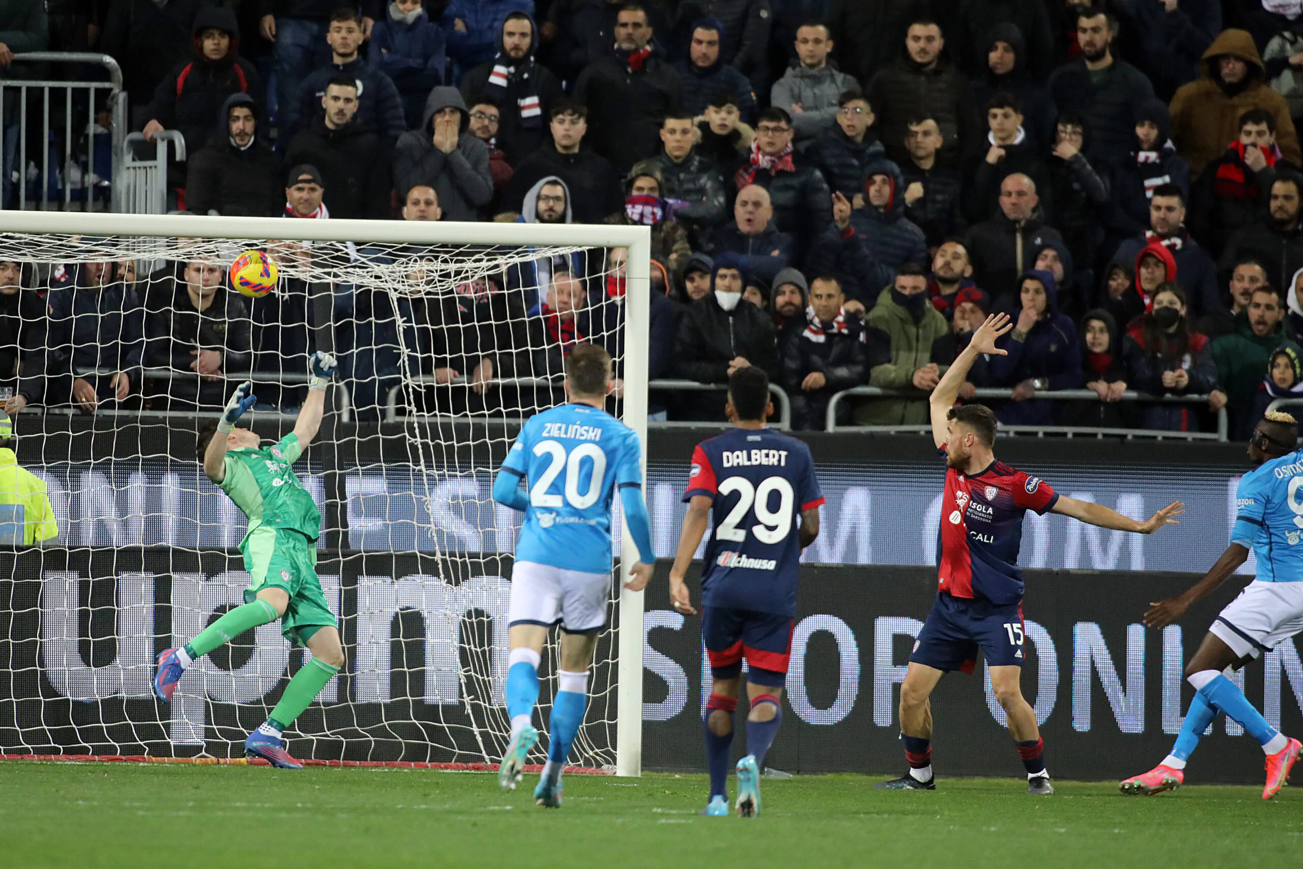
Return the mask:
[[[61,207],[61,210],[68,211],[73,207],[76,201],[78,205],[85,207],[85,210],[93,211],[98,198],[106,210],[122,211],[124,207],[119,199],[120,194],[117,192],[117,177],[126,150],[126,130],[129,121],[126,116],[126,91],[122,90],[122,70],[117,65],[117,61],[108,55],[60,51],[18,52],[13,56],[13,61],[16,64],[98,65],[103,66],[108,73],[107,82],[43,81],[23,78],[0,79],[0,130],[4,132],[3,172],[5,176],[7,190],[10,184],[10,173],[17,172],[18,175],[18,208],[26,208],[29,206],[27,142],[34,130],[30,130],[27,125],[35,120],[35,117],[29,113],[29,102],[34,99],[33,94],[39,93],[42,142],[39,167],[40,194],[38,197],[39,207],[50,210],[53,203]],[[51,111],[57,108],[52,94],[56,95],[59,91],[63,91],[61,138],[64,147],[61,165],[57,163],[59,154],[55,149],[55,141],[57,139],[60,130],[51,126]],[[95,159],[95,115],[96,108],[102,104],[102,99],[108,100],[109,113],[112,117],[112,128],[107,130],[109,141],[109,165],[107,167],[107,175],[100,175],[100,172],[96,171],[98,168],[104,167],[96,167],[98,160]],[[73,133],[74,103],[77,103],[77,115],[81,115],[82,111],[86,112],[85,132],[78,134]],[[81,103],[85,103],[85,106]],[[14,115],[17,115],[17,120],[14,120]],[[59,119],[56,117],[55,120],[57,121]],[[74,141],[85,142],[85,155],[87,156],[85,167],[79,165],[73,159]],[[51,165],[51,160],[55,162],[55,165]],[[73,181],[78,173],[81,184],[78,186],[78,195],[74,199]],[[106,197],[103,195],[95,195],[95,192],[106,188],[111,192],[111,202],[106,201]]]

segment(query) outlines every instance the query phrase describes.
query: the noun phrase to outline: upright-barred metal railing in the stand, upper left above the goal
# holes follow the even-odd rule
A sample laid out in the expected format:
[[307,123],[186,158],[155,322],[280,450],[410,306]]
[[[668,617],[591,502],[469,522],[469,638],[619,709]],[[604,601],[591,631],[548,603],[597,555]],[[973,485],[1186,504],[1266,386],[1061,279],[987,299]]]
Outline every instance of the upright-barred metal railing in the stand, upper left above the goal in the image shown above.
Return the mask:
[[[63,52],[63,51],[25,51],[13,56],[14,63],[31,63],[31,64],[94,64],[103,66],[108,70],[107,82],[61,82],[61,81],[38,81],[38,79],[22,79],[22,78],[5,78],[0,79],[0,132],[4,133],[4,171],[10,173],[17,172],[18,175],[18,208],[27,207],[27,103],[30,91],[40,91],[40,197],[38,197],[40,208],[51,208],[51,195],[50,192],[53,188],[63,190],[61,210],[68,211],[73,205],[73,185],[69,176],[73,165],[73,141],[86,142],[86,158],[87,164],[82,171],[82,184],[81,190],[86,197],[85,208],[86,211],[93,211],[95,205],[95,185],[91,180],[96,177],[95,173],[95,109],[99,106],[99,94],[103,91],[108,98],[109,113],[112,116],[112,129],[108,130],[111,142],[111,167],[108,177],[102,177],[98,180],[99,185],[109,185],[111,202],[106,205],[106,211],[121,211],[117,202],[117,172],[122,165],[122,154],[125,151],[126,142],[126,91],[122,90],[122,70],[117,65],[117,61],[108,55],[96,55],[89,52]],[[9,91],[18,91],[17,96],[17,125],[13,124],[12,117],[7,116],[7,109],[9,108],[12,98]],[[53,145],[50,141],[51,134],[51,93],[64,91],[64,159],[63,165],[55,167],[55,173],[51,175],[50,155]],[[86,129],[85,133],[74,135],[73,134],[73,102],[77,91],[86,91]],[[81,113],[79,111],[77,112]],[[13,142],[16,154],[10,152],[10,135],[9,128],[13,126],[17,141]],[[57,158],[56,158],[57,159]],[[56,182],[55,180],[59,178]],[[8,180],[8,178],[7,178]],[[59,197],[53,199],[59,205]],[[8,205],[8,203],[4,203]]]

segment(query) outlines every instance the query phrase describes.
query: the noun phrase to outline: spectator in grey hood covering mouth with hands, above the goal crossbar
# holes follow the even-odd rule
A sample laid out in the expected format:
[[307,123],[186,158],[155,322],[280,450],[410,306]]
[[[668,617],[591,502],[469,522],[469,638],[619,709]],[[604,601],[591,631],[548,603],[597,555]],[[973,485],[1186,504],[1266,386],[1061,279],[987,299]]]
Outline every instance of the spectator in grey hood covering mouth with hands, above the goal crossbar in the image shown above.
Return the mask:
[[394,155],[400,197],[417,184],[434,188],[447,220],[474,220],[493,199],[489,146],[469,132],[470,112],[456,87],[435,87],[421,128],[404,133]]

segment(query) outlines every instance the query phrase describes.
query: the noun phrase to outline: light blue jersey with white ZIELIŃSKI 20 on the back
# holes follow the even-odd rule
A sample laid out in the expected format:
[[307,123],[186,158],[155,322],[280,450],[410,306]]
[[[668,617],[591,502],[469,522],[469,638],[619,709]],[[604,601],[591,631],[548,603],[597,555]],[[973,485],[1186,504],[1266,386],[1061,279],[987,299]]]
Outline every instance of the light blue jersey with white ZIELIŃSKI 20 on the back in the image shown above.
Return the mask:
[[529,496],[516,560],[610,572],[611,499],[642,485],[641,452],[632,429],[586,404],[530,417],[502,465],[525,478]]

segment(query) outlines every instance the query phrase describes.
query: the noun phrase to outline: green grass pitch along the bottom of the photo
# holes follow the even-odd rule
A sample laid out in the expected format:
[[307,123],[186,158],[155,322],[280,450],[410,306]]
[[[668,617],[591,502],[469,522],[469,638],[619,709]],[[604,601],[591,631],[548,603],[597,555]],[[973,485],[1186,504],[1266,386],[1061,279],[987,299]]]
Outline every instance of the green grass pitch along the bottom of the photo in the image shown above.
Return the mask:
[[[706,818],[701,775],[572,775],[534,806],[486,773],[0,762],[0,865],[72,866],[1296,866],[1303,793],[874,778],[762,783],[758,819]],[[528,787],[526,787],[528,786]],[[745,861],[741,862],[741,861]]]

